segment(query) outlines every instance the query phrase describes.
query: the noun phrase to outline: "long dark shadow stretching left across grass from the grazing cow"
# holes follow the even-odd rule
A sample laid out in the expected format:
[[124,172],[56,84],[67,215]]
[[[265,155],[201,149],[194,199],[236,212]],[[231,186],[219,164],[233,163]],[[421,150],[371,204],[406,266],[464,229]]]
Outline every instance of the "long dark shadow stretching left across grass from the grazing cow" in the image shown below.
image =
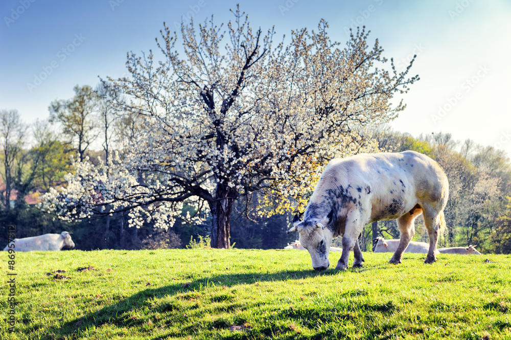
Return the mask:
[[[361,269],[353,269],[361,270]],[[153,308],[151,300],[161,299],[164,297],[172,297],[179,293],[186,293],[189,291],[200,291],[204,287],[210,287],[212,283],[219,284],[226,287],[235,285],[248,285],[256,282],[275,282],[312,278],[317,276],[330,276],[339,273],[338,270],[328,269],[325,271],[315,270],[284,270],[274,273],[243,273],[243,274],[225,274],[204,277],[198,279],[190,284],[183,285],[171,284],[159,288],[144,289],[131,297],[119,300],[117,303],[105,306],[97,312],[90,313],[82,316],[81,318],[69,321],[60,327],[53,327],[50,333],[52,337],[43,337],[43,339],[54,338],[80,338],[79,333],[91,327],[101,327],[102,325],[112,324],[121,327],[137,327],[141,326],[142,320],[130,318],[130,311],[139,308]],[[172,311],[172,305],[164,305],[158,307],[161,312]]]

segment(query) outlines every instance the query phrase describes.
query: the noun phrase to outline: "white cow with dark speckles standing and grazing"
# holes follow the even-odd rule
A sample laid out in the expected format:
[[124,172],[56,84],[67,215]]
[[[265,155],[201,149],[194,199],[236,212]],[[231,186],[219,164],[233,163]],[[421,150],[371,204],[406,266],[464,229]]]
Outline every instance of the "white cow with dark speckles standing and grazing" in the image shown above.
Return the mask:
[[298,232],[311,255],[312,267],[327,269],[332,238],[342,235],[342,255],[336,269],[346,269],[350,252],[354,267],[364,261],[357,238],[365,225],[398,220],[400,242],[390,263],[401,263],[421,213],[429,236],[425,263],[436,261],[438,235],[445,230],[444,208],[449,183],[444,170],[430,157],[415,152],[358,154],[332,160],[321,174],[305,209],[288,230]]

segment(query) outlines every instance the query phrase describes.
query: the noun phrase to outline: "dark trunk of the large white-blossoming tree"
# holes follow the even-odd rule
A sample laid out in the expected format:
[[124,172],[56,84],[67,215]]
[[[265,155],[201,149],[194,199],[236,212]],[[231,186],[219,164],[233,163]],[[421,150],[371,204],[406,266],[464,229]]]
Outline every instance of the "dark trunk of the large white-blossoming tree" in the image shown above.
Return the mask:
[[212,216],[212,248],[230,248],[230,213],[235,198],[236,191],[233,188],[224,184],[217,185],[215,201],[209,203]]

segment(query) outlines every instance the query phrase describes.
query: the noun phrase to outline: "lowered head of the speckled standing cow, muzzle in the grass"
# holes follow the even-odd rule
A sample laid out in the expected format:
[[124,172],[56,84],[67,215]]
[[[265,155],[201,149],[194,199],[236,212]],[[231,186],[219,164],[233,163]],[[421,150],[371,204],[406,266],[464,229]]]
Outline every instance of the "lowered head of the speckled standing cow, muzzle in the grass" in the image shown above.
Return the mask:
[[328,255],[332,243],[332,232],[326,226],[331,222],[333,210],[323,218],[311,218],[300,220],[298,215],[294,216],[293,226],[288,234],[298,232],[300,244],[307,249],[312,259],[312,267],[315,270],[327,269],[330,265]]

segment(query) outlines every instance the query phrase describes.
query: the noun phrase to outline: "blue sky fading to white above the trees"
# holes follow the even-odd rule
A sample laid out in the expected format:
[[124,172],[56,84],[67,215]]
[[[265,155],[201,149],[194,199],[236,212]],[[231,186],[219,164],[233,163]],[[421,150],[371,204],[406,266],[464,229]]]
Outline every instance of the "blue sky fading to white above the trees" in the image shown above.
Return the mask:
[[[17,109],[27,123],[47,118],[50,103],[71,98],[75,85],[123,75],[128,51],[156,52],[164,21],[172,27],[183,16],[197,22],[214,14],[225,22],[237,3],[2,0],[0,108]],[[411,73],[421,80],[392,128],[415,136],[451,132],[511,154],[511,1],[259,0],[241,9],[253,27],[274,25],[278,34],[315,28],[324,18],[344,42],[346,28],[365,25],[398,69],[417,54]],[[45,79],[35,78],[41,74]]]

